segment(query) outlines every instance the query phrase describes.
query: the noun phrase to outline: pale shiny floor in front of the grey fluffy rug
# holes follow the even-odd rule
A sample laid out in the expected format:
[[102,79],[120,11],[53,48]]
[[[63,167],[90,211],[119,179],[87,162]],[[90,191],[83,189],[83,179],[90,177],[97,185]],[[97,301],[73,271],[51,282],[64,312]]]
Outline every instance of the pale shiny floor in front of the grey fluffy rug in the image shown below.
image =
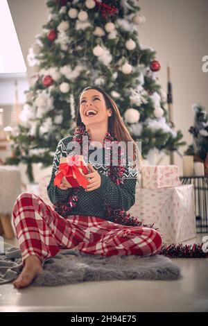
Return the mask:
[[[187,243],[202,242],[205,235]],[[208,259],[174,262],[182,268],[182,280],[84,282],[22,290],[1,285],[0,311],[208,311]]]

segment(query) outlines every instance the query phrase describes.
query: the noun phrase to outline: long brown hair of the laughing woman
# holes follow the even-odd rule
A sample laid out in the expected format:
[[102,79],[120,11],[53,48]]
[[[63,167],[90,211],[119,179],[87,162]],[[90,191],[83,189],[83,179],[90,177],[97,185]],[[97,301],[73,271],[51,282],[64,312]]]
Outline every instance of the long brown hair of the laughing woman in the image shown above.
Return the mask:
[[134,139],[132,139],[128,129],[126,128],[123,120],[121,118],[121,114],[119,112],[119,108],[117,107],[116,103],[112,99],[110,95],[108,95],[103,89],[97,86],[88,86],[83,89],[83,91],[78,96],[78,110],[76,113],[76,126],[85,126],[80,117],[80,97],[83,92],[87,91],[88,89],[96,89],[98,92],[103,94],[105,99],[106,108],[112,109],[112,116],[108,118],[108,131],[114,133],[116,139],[118,141],[124,141],[125,145],[128,146],[128,141],[132,141],[133,144],[133,159],[137,165],[137,168],[141,170],[141,164],[143,162],[143,158],[141,156],[141,152],[137,147]]

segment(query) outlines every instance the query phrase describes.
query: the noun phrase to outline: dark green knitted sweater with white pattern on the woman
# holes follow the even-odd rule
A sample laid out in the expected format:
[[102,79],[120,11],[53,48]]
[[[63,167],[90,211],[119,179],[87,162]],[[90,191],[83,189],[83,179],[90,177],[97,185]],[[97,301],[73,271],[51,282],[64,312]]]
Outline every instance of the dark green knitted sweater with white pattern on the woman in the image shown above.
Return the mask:
[[[71,140],[71,136],[61,139],[55,151],[51,180],[47,187],[49,199],[53,205],[57,203],[64,205],[64,203],[67,203],[69,195],[74,189],[69,188],[62,190],[53,185],[55,171],[58,170],[60,157],[67,157],[67,155],[69,155],[70,152],[67,150],[67,144],[69,144],[69,141]],[[89,146],[89,156],[94,151],[95,148]],[[78,193],[76,207],[73,207],[69,212],[62,214],[62,216],[80,214],[85,216],[98,216],[105,219],[107,214],[106,203],[112,209],[123,209],[125,211],[128,211],[128,209],[134,205],[137,169],[134,169],[130,164],[127,164],[125,166],[125,172],[123,173],[123,183],[121,185],[116,185],[107,175],[107,167],[103,164],[103,157],[105,157],[104,148],[100,148],[99,151],[102,151],[102,155],[98,155],[98,157],[102,157],[102,159],[93,161],[89,160],[89,163],[92,164],[94,169],[96,169],[96,171],[101,175],[101,186],[92,191],[85,191],[83,187],[79,187],[80,191]]]

